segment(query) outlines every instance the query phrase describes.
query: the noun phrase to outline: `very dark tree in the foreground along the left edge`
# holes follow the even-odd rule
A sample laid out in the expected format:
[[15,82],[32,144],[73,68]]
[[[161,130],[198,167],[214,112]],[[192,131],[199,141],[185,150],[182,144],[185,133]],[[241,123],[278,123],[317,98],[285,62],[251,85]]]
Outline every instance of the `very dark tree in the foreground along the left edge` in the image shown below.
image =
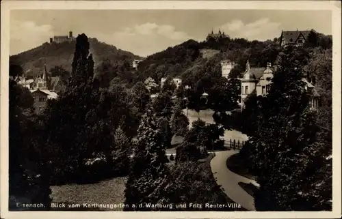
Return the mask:
[[34,99],[27,88],[10,80],[9,114],[9,198],[10,210],[16,203],[42,203],[41,210],[51,204],[49,171],[39,146],[39,128],[31,115]]

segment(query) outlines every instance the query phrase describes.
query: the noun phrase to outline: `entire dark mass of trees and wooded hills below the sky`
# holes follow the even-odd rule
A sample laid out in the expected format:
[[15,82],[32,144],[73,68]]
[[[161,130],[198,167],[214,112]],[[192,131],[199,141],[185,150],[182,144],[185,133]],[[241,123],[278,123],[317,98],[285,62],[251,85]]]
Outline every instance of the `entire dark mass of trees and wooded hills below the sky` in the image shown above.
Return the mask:
[[[125,210],[151,210],[146,203],[226,203],[209,159],[207,166],[198,160],[223,146],[224,128],[236,128],[250,136],[240,157],[251,161],[245,164],[261,185],[257,210],[331,209],[331,44],[329,36],[315,31],[304,48],[285,50],[277,39],[188,40],[150,55],[136,72],[131,60],[139,57],[84,34],[75,42],[43,44],[12,56],[11,76],[27,70],[35,76],[46,62],[54,66],[51,76],[68,83],[37,118],[29,91],[10,82],[10,195],[49,206],[49,183],[129,175]],[[220,53],[202,57],[203,50]],[[222,78],[224,59],[237,63],[228,79]],[[279,68],[269,95],[252,93],[244,111],[236,113],[237,78],[247,60]],[[304,76],[321,96],[317,112],[308,107],[313,93],[305,89]],[[176,88],[172,77],[182,85]],[[161,78],[167,80],[159,88]],[[210,108],[220,125],[198,120],[189,130],[184,106]],[[184,137],[175,164],[166,157],[174,135]]]

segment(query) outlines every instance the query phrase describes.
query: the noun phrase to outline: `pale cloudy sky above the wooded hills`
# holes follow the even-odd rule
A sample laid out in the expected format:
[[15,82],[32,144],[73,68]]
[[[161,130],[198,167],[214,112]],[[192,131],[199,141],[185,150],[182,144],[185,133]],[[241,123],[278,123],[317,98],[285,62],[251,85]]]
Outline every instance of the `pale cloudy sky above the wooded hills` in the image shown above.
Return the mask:
[[282,30],[331,34],[332,20],[330,11],[313,10],[11,10],[10,55],[73,31],[146,57],[219,29],[231,38],[273,40]]

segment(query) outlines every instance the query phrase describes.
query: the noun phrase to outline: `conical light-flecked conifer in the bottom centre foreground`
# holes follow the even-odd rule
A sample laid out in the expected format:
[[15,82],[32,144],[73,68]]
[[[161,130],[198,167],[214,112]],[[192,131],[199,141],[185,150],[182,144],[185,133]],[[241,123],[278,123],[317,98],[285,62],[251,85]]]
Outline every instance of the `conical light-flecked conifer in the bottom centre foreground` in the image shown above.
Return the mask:
[[157,118],[150,110],[142,117],[134,145],[133,164],[124,190],[125,204],[129,207],[124,210],[150,211],[146,203],[168,203],[168,192],[171,192],[168,190],[166,145]]

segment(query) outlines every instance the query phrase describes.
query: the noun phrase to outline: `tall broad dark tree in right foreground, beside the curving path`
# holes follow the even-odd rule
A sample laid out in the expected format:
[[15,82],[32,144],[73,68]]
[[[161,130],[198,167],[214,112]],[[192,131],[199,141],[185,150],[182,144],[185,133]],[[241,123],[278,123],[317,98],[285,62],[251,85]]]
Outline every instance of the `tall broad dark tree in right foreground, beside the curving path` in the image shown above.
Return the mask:
[[[252,160],[261,185],[255,198],[257,210],[328,210],[330,192],[322,192],[329,169],[324,144],[318,140],[317,114],[308,102],[312,93],[302,82],[302,66],[308,54],[300,48],[285,48],[269,94],[261,107]],[[331,184],[330,184],[331,186]]]

